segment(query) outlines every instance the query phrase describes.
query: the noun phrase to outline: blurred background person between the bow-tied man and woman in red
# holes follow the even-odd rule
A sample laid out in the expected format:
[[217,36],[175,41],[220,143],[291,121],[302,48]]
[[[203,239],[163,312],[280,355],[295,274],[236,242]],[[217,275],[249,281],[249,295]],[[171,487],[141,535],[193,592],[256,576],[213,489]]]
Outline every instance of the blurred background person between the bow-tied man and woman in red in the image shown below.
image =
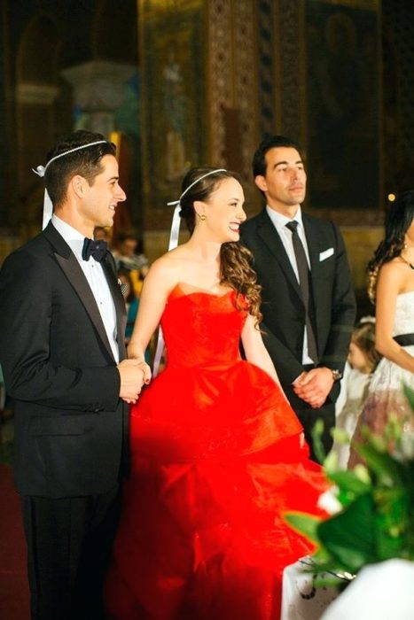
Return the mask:
[[113,258],[118,269],[128,270],[136,295],[141,293],[145,275],[148,273],[148,259],[138,253],[138,238],[135,232],[120,230],[113,239]]

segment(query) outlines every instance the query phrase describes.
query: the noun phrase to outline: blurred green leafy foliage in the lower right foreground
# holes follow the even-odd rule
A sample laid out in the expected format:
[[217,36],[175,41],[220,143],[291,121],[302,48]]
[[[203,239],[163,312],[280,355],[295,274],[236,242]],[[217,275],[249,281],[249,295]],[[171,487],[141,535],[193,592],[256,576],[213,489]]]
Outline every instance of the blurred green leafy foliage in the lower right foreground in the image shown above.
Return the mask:
[[[414,407],[414,391],[405,387],[404,392]],[[412,418],[390,415],[380,437],[364,430],[364,443],[357,446],[364,465],[341,471],[327,457],[326,476],[340,506],[336,514],[327,519],[285,515],[293,529],[318,546],[313,571],[355,576],[366,564],[395,557],[414,561],[413,429]]]

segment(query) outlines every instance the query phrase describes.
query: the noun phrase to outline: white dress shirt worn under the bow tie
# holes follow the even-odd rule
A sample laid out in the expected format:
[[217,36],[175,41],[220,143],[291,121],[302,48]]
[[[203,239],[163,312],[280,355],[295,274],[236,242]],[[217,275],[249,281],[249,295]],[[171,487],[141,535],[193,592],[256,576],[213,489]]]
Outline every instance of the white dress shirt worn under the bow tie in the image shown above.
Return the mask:
[[90,285],[90,290],[97,302],[98,310],[104,323],[105,332],[111,345],[113,357],[115,361],[120,360],[120,353],[118,349],[117,333],[116,333],[116,311],[113,304],[113,297],[109,290],[104,269],[102,265],[95,260],[93,256],[90,260],[82,259],[82,247],[85,237],[79,230],[74,229],[66,221],[60,220],[60,218],[53,214],[51,223],[58,230],[59,234],[63,236],[66,244],[69,245],[74,256],[78,260],[82,272],[85,275]]

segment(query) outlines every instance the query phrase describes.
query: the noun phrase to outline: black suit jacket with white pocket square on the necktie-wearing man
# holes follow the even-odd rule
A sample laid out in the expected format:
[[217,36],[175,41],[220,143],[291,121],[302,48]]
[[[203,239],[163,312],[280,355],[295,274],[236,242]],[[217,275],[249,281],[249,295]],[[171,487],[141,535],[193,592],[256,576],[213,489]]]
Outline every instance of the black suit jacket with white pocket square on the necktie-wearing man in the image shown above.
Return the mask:
[[[355,322],[355,295],[340,230],[302,213],[311,265],[318,366],[342,370]],[[241,241],[254,255],[262,284],[264,340],[283,386],[302,368],[305,306],[285,247],[266,209],[243,224]],[[334,390],[333,396],[335,395]]]

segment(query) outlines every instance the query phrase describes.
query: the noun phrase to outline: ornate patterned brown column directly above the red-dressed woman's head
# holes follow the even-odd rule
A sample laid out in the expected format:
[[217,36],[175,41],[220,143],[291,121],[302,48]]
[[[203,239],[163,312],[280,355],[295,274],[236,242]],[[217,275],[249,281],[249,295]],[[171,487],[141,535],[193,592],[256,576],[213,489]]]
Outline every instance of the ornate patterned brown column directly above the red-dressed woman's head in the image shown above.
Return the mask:
[[210,160],[241,174],[249,195],[259,135],[257,6],[235,0],[209,0],[207,5]]

